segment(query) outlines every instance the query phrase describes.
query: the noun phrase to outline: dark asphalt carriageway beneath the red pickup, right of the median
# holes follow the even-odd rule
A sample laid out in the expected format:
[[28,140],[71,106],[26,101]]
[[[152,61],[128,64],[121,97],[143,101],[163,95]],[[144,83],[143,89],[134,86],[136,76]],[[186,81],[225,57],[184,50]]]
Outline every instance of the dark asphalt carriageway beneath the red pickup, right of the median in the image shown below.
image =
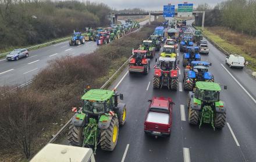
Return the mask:
[[[129,74],[126,69],[109,88],[117,88],[125,97],[126,124],[119,130],[115,150],[103,152],[98,149],[97,161],[255,161],[256,81],[246,70],[229,69],[225,65],[225,55],[210,42],[208,44],[209,55],[202,55],[202,60],[212,63],[210,71],[215,82],[227,85],[227,90],[221,92],[227,107],[225,127],[214,131],[210,125],[203,125],[201,129],[190,125],[187,121],[187,92],[182,87],[178,91],[153,89],[152,68],[148,75]],[[179,53],[181,62],[182,56]],[[154,64],[152,60],[151,67]],[[179,81],[182,82],[182,64],[179,67]],[[144,134],[147,100],[153,96],[170,97],[175,102],[170,138],[155,139]]]

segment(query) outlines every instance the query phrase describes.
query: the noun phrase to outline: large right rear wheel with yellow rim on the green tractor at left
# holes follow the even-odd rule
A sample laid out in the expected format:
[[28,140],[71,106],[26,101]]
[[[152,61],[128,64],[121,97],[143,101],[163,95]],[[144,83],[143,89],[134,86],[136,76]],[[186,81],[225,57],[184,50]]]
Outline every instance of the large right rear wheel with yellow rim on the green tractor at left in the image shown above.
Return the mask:
[[108,129],[101,130],[101,149],[105,151],[113,151],[118,142],[118,118],[113,117]]

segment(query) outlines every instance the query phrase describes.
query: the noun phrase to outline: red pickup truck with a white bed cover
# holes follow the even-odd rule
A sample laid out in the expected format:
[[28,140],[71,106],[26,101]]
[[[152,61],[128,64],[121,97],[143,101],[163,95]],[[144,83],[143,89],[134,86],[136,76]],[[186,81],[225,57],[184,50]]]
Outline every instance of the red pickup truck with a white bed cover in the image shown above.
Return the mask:
[[144,121],[145,134],[157,136],[169,136],[172,128],[172,107],[171,98],[152,98],[148,100],[150,107]]

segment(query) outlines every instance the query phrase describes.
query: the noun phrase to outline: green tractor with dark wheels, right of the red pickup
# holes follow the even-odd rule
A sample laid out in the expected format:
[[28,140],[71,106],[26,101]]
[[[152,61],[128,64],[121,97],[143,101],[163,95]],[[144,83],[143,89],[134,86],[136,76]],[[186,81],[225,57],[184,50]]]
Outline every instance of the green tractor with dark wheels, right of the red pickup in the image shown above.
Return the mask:
[[[224,86],[224,89],[227,89]],[[193,92],[189,92],[187,107],[189,123],[193,125],[211,124],[212,128],[223,128],[226,123],[226,107],[219,100],[221,87],[215,82],[198,81]]]

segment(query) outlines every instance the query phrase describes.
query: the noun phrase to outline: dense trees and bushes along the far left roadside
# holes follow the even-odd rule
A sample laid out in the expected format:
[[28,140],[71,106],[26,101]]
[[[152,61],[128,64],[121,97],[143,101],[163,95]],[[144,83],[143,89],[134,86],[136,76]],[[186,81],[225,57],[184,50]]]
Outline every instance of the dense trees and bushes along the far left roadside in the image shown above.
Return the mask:
[[110,10],[90,1],[0,0],[0,51],[104,26]]

